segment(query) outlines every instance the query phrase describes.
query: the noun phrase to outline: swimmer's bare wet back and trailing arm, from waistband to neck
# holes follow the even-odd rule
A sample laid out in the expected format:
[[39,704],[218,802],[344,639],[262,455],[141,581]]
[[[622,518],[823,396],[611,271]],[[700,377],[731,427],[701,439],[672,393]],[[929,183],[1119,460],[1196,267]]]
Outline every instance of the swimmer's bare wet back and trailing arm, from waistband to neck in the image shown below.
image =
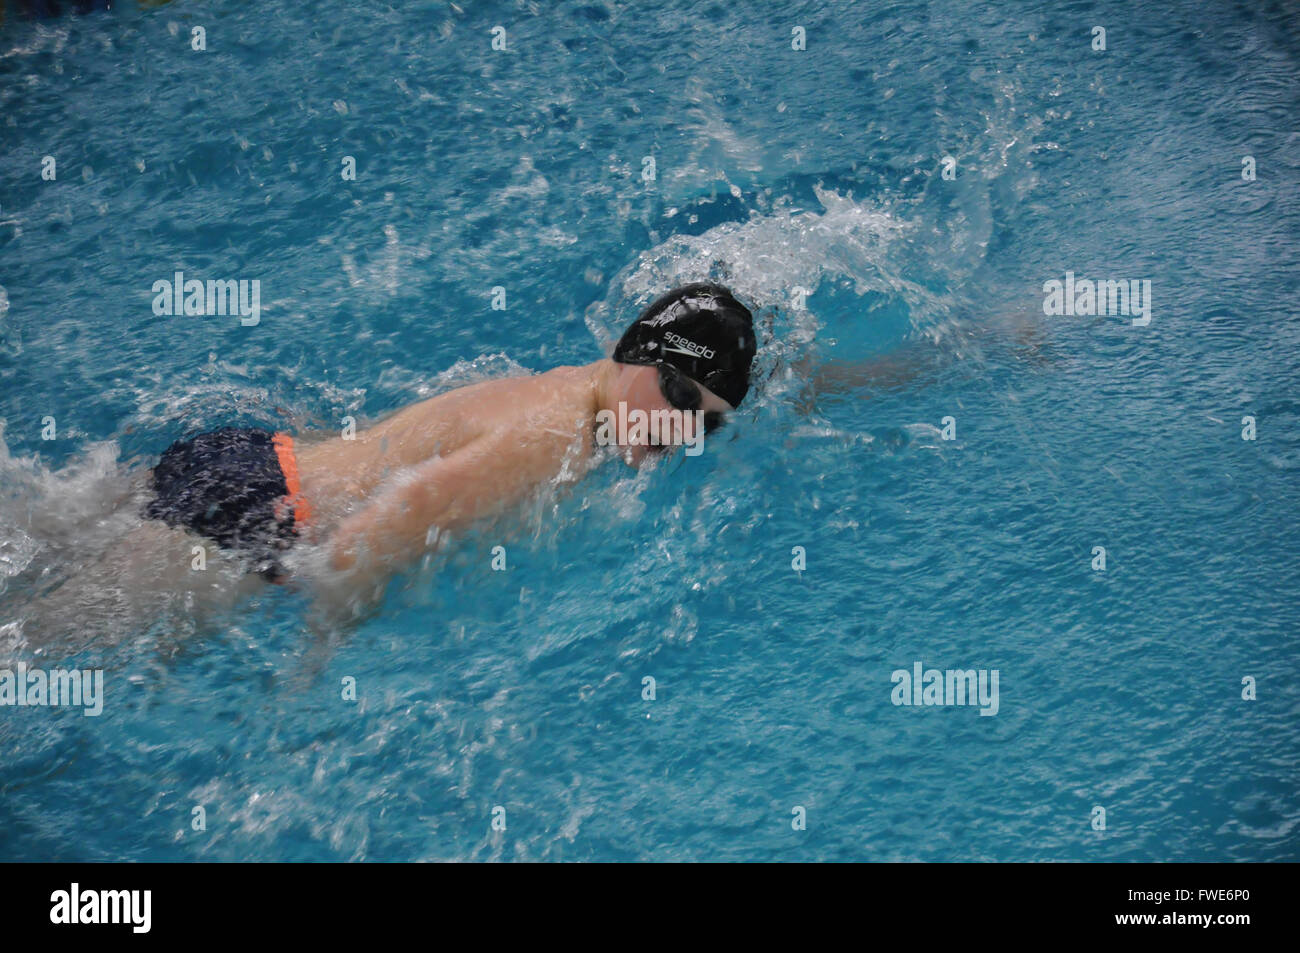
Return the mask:
[[351,438],[300,438],[308,541],[365,584],[456,530],[590,465],[599,365],[484,381],[406,407]]

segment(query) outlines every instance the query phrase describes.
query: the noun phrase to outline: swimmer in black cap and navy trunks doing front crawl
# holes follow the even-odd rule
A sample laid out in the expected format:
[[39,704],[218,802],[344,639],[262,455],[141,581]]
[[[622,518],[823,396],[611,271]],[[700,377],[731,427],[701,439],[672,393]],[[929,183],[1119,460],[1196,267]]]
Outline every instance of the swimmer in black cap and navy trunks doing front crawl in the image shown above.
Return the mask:
[[[179,439],[148,476],[144,524],[98,560],[105,577],[79,590],[190,586],[191,607],[211,595],[212,586],[185,581],[188,553],[207,541],[238,560],[244,580],[290,582],[309,564],[317,601],[355,611],[441,533],[573,482],[603,459],[640,467],[662,455],[656,437],[702,439],[744,400],[755,351],[750,311],[701,282],[653,302],[608,359],[463,386],[355,436],[220,428]],[[676,411],[660,417],[672,420],[671,437],[601,425],[634,411]],[[616,454],[598,450],[606,438]],[[83,627],[87,610],[70,593],[64,602],[60,628]]]

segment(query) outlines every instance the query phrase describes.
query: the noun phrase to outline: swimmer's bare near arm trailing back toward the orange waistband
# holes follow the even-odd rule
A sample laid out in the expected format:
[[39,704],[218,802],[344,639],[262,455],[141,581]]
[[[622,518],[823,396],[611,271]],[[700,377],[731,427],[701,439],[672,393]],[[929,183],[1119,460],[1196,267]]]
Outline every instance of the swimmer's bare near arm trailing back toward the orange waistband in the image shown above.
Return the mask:
[[480,438],[412,467],[330,538],[330,567],[359,585],[376,582],[429,547],[430,529],[460,529],[490,515],[514,491],[508,467]]

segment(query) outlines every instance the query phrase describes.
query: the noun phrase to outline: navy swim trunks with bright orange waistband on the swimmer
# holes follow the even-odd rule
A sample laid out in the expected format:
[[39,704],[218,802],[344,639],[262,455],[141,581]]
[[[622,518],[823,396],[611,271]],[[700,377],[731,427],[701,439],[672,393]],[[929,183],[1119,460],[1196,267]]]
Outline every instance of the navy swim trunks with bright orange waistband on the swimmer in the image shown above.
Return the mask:
[[285,576],[277,556],[307,521],[289,434],[224,426],[178,439],[153,468],[144,515],[240,553],[254,572]]

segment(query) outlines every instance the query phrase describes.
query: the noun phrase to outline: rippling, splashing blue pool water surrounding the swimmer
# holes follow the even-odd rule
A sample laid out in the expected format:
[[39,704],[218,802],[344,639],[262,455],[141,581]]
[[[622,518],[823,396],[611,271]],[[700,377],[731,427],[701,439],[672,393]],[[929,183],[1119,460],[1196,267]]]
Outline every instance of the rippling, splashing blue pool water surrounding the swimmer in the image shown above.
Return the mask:
[[104,714],[0,709],[0,859],[1300,859],[1297,66],[1284,3],[10,3],[0,624],[187,430],[595,360],[689,278],[766,342],[727,439],[350,633],[88,619]]

